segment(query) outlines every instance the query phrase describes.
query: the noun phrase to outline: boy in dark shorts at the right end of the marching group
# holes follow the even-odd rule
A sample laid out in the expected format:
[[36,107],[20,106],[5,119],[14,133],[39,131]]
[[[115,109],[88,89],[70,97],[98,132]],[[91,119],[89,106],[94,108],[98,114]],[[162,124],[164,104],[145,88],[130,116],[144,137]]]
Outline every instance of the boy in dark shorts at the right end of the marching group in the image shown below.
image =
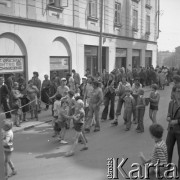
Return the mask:
[[152,123],[157,123],[156,115],[157,115],[157,111],[158,111],[160,94],[157,91],[158,86],[156,84],[153,84],[151,86],[151,88],[152,88],[152,91],[149,96],[149,102],[150,102],[149,117],[152,120]]

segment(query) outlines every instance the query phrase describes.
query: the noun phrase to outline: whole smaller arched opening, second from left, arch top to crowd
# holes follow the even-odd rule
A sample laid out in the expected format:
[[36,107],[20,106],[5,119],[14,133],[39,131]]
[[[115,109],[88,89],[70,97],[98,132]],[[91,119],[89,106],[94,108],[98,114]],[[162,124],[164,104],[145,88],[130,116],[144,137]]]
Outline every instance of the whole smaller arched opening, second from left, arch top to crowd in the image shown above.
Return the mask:
[[50,76],[56,72],[60,78],[66,77],[67,72],[71,71],[72,53],[68,41],[63,37],[57,37],[52,42],[50,52]]

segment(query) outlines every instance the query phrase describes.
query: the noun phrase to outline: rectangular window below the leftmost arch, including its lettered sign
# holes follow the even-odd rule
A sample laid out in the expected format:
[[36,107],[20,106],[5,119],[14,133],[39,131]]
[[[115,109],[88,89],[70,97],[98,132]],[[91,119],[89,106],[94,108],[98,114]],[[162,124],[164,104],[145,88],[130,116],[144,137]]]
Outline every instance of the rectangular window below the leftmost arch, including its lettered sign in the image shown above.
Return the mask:
[[12,73],[15,75],[15,81],[20,74],[26,78],[25,56],[0,56],[0,76],[3,76],[6,82]]

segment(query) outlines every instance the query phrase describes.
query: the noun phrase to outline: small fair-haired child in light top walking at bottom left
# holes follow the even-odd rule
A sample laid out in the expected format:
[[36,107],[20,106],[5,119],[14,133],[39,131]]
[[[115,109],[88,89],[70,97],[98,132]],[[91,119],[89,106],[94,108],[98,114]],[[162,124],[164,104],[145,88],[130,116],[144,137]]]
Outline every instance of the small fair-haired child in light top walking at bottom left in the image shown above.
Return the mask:
[[[11,160],[13,148],[13,123],[10,120],[5,120],[3,125],[3,146],[5,155],[5,176],[6,178],[16,175],[14,164]],[[12,173],[8,175],[8,166],[11,168]]]

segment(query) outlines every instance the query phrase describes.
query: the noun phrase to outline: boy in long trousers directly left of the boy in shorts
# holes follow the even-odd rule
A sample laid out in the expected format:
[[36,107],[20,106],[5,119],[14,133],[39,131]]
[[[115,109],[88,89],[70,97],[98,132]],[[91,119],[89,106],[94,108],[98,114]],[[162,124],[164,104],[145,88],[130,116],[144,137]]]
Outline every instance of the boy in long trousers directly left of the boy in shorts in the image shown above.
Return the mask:
[[138,91],[138,98],[137,98],[137,105],[136,105],[136,117],[138,126],[136,128],[137,133],[144,132],[144,114],[145,114],[145,108],[146,108],[146,101],[144,97],[144,90],[139,89]]

